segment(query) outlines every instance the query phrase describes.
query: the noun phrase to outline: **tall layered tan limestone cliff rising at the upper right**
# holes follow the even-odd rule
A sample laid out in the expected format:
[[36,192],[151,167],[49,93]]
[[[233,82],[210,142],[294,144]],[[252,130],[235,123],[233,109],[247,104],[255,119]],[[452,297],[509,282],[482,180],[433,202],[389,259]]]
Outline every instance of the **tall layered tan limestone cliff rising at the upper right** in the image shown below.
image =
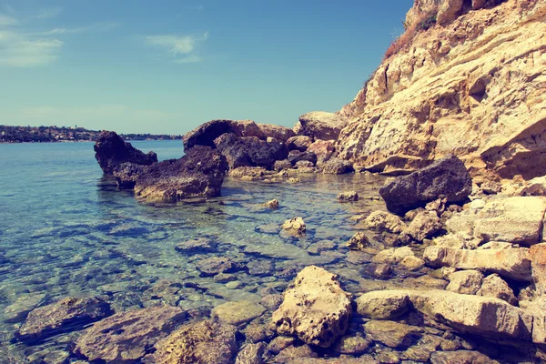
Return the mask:
[[405,27],[339,111],[339,157],[400,173],[454,153],[475,177],[545,175],[546,0],[415,0]]

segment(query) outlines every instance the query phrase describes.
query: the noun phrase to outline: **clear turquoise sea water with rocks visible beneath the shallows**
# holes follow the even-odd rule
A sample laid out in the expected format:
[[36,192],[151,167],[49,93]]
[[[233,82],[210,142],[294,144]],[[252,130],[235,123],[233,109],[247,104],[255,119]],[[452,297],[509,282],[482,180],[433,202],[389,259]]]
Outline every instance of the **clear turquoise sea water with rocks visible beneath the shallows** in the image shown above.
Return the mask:
[[[183,154],[180,141],[133,144],[159,159]],[[346,259],[345,242],[356,230],[349,217],[384,208],[368,198],[377,197],[383,183],[370,175],[312,175],[298,185],[227,179],[222,197],[143,204],[103,177],[92,143],[0,145],[0,171],[0,362],[41,362],[48,350],[65,350],[72,334],[35,346],[10,342],[20,322],[6,319],[21,307],[66,296],[102,295],[116,311],[147,307],[156,304],[147,289],[167,279],[201,287],[187,288],[169,304],[212,308],[228,300],[259,301],[271,289],[282,292],[310,264],[339,273],[344,288],[361,291],[369,280],[361,265]],[[365,198],[340,204],[336,195],[344,190]],[[272,198],[280,201],[276,211],[261,206]],[[306,237],[279,234],[279,225],[295,216],[305,219]],[[258,262],[261,273],[236,273],[236,289],[199,277],[196,263],[207,257],[175,249],[197,237],[217,243],[209,255]],[[319,254],[313,247],[321,240],[333,248]]]

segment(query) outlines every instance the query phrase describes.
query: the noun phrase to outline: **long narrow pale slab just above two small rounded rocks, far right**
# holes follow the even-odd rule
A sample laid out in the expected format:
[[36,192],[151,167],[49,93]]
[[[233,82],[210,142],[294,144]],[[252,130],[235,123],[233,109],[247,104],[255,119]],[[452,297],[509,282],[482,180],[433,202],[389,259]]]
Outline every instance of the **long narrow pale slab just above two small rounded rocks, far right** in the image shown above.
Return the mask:
[[531,280],[531,258],[528,248],[480,249],[427,247],[423,254],[432,268],[452,267],[497,273],[515,280]]

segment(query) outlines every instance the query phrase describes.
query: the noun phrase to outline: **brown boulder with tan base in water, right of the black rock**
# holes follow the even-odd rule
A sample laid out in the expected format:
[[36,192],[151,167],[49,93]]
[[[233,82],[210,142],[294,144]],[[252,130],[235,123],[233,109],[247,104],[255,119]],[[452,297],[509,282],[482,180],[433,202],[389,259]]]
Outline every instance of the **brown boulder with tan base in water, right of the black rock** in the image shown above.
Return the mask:
[[185,197],[215,197],[220,194],[226,171],[226,158],[216,150],[193,147],[180,159],[148,167],[136,178],[135,194],[163,202],[176,202]]

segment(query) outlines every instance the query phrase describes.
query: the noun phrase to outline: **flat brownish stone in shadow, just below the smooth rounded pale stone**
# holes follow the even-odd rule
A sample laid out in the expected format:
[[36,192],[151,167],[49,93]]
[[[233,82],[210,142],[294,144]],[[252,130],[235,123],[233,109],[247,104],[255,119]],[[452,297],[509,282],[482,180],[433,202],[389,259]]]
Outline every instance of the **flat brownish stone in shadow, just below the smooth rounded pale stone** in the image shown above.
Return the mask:
[[420,337],[422,329],[388,320],[371,320],[364,325],[369,339],[389,348],[407,348]]

